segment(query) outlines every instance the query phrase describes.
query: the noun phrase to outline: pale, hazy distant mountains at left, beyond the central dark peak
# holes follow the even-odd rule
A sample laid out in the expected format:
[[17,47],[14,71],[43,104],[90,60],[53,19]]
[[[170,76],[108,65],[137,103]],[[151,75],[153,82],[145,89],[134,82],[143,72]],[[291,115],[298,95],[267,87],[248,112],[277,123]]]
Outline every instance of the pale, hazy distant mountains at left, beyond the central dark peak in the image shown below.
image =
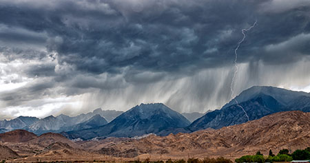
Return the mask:
[[36,134],[62,131],[72,131],[99,127],[119,116],[123,111],[95,109],[90,113],[82,113],[79,116],[48,116],[46,118],[35,118],[19,116],[12,120],[0,121],[0,133],[12,131],[14,129],[25,129]]

